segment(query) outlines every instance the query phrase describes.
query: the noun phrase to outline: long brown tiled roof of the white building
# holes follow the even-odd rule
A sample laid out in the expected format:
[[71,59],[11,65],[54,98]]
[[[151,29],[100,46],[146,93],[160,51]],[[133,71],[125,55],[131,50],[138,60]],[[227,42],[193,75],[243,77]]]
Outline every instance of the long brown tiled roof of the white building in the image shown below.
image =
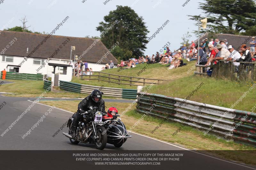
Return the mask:
[[[0,34],[0,51],[6,48],[6,45],[10,45],[9,42],[15,38],[17,41],[14,42],[12,46],[6,48],[5,55],[12,56],[27,56],[40,42],[44,40],[44,37],[47,37],[48,34],[36,34],[36,33],[26,33],[26,32],[15,32],[15,31],[2,31]],[[70,39],[67,42],[67,39]],[[48,58],[54,53],[55,49],[60,49],[58,55],[53,56],[55,59],[70,59],[70,47],[76,46],[76,50],[72,51],[72,59],[74,60],[74,55],[82,55],[83,52],[92,45],[96,39],[92,38],[78,38],[78,37],[66,37],[52,35],[46,40],[46,42],[41,45],[34,54],[31,55],[33,58]],[[67,44],[64,46],[64,42]],[[62,48],[60,48],[62,46]],[[28,53],[27,53],[28,48]],[[108,52],[108,49],[105,45],[98,41],[94,47],[92,47],[83,57],[82,61],[87,61],[91,63],[97,63],[105,53]],[[110,53],[103,58],[101,63],[109,63],[110,60],[113,60],[117,64],[117,59]]]

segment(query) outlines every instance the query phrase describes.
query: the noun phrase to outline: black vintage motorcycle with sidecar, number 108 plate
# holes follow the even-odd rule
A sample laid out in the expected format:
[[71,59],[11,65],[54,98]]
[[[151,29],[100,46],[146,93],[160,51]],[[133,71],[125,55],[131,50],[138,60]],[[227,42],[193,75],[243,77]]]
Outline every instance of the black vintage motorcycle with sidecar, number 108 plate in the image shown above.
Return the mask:
[[[73,117],[68,120],[68,133],[62,134],[69,138],[72,144],[78,144],[79,142],[85,144],[95,144],[96,148],[102,150],[106,147],[106,144],[114,144],[116,147],[121,147],[127,138],[132,137],[127,134],[124,123],[120,118],[105,120],[102,119],[103,115],[106,115],[99,111],[98,107],[90,107],[89,111],[81,114],[82,120],[78,123],[76,134],[77,138],[72,139],[71,125],[73,123]],[[120,117],[120,115],[116,115]]]

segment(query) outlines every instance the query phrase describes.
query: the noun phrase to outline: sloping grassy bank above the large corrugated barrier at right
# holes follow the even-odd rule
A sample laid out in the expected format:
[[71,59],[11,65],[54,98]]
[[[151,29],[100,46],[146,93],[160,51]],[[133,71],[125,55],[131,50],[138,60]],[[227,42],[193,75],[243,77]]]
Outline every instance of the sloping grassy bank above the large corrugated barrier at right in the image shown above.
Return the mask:
[[154,85],[148,92],[185,99],[201,83],[201,88],[189,100],[229,108],[244,92],[249,91],[234,109],[250,111],[256,104],[256,86],[252,87],[256,82],[231,82],[196,75]]

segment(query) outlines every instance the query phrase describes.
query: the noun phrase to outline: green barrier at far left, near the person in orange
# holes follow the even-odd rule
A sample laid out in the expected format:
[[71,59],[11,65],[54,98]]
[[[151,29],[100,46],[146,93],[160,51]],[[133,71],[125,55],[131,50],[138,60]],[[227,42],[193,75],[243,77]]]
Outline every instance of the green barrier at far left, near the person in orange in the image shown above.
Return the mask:
[[[2,72],[0,72],[0,77],[2,78]],[[42,74],[27,74],[27,73],[6,72],[5,79],[43,81],[44,80],[44,75],[42,75]]]

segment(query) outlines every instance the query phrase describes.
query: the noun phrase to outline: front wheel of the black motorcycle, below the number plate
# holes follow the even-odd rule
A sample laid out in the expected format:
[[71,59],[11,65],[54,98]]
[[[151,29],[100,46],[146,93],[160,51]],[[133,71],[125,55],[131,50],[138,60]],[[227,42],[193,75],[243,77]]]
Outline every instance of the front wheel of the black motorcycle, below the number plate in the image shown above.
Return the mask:
[[97,132],[98,139],[96,139],[95,141],[95,146],[97,149],[102,150],[106,147],[107,140],[108,140],[106,129],[104,126],[97,126],[96,132]]

